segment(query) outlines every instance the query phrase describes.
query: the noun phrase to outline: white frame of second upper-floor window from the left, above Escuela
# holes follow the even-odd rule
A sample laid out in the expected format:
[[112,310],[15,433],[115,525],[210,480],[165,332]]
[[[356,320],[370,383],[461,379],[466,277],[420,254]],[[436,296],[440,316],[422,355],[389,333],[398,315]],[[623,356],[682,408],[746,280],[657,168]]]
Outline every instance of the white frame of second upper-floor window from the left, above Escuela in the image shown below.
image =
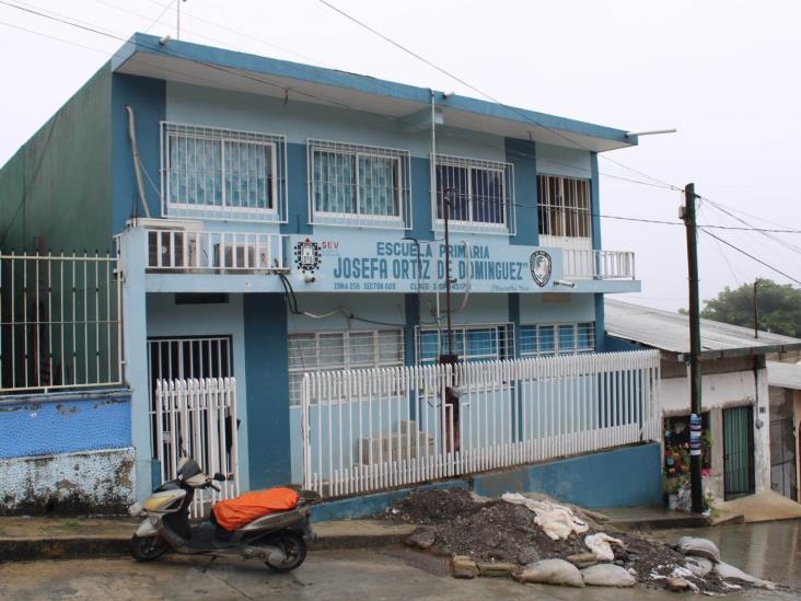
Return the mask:
[[[384,148],[370,145],[352,142],[339,142],[330,140],[317,140],[310,138],[307,146],[307,173],[309,173],[309,215],[313,224],[328,226],[363,226],[373,223],[374,227],[410,228],[411,208],[407,207],[406,198],[409,195],[410,153],[408,150]],[[317,182],[314,181],[314,155],[316,152],[340,154],[353,158],[353,195],[355,212],[323,211],[318,210],[315,203],[314,190]],[[395,203],[398,209],[397,215],[374,215],[363,212],[363,200],[359,194],[359,159],[385,159],[394,162],[395,169]]]

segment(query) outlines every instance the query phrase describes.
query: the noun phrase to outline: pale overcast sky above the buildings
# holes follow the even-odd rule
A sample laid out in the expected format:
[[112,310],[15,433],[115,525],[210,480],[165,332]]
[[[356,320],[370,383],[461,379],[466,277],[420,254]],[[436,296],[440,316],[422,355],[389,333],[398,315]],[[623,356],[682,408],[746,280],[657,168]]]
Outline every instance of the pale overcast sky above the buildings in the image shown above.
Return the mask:
[[[170,0],[2,1],[120,37],[175,35]],[[754,227],[801,230],[801,2],[330,1],[504,103],[634,131],[676,127],[605,155],[695,182]],[[188,0],[182,39],[477,95],[318,0]],[[0,164],[120,45],[0,4]],[[677,220],[678,192],[613,177],[654,183],[603,158],[600,169],[602,213]],[[637,253],[642,292],[626,297],[686,307],[683,228],[602,221],[605,249]],[[700,221],[741,224],[707,203]],[[801,234],[715,233],[801,280]],[[701,298],[757,276],[790,282],[707,235],[700,274]]]

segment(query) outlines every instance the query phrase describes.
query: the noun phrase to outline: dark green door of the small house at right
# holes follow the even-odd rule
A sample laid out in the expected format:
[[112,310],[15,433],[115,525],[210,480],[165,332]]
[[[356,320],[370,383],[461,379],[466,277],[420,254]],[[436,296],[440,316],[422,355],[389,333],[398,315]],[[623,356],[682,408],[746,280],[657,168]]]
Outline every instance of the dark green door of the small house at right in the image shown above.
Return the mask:
[[723,493],[733,499],[754,493],[754,408],[723,409]]

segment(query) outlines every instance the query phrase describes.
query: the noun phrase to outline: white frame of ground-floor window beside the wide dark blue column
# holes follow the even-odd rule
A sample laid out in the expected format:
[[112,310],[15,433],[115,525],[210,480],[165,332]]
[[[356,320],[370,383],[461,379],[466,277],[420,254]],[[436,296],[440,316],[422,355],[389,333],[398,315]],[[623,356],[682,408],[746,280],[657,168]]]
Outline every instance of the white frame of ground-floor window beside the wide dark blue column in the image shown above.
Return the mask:
[[[381,358],[381,334],[392,332],[395,334],[396,339],[398,340],[398,347],[397,347],[397,359],[393,360],[382,360]],[[353,336],[364,335],[364,334],[371,334],[373,337],[373,361],[372,365],[364,365],[363,362],[357,362],[353,363],[351,361],[351,347],[350,347],[350,338]],[[343,344],[343,365],[341,367],[332,367],[332,366],[324,366],[321,363],[321,357],[323,354],[321,351],[324,351],[323,346],[321,345],[321,339],[325,340],[328,336],[341,336],[341,344]],[[289,390],[289,401],[290,405],[299,405],[300,404],[300,390],[293,390],[291,384],[291,375],[292,374],[301,374],[305,372],[320,372],[320,371],[344,371],[347,369],[374,369],[374,368],[387,368],[387,367],[403,367],[406,365],[406,348],[405,348],[405,333],[404,330],[400,327],[385,327],[385,328],[376,328],[376,330],[327,330],[327,331],[316,331],[316,332],[310,332],[310,331],[301,331],[301,332],[291,332],[287,339],[287,352],[290,354],[292,351],[292,338],[294,336],[304,336],[304,337],[313,337],[314,339],[314,366],[306,366],[303,362],[303,359],[307,359],[307,357],[303,357],[301,355],[300,365],[292,365],[292,356],[288,355],[288,372],[290,374],[290,390]],[[325,344],[323,342],[323,344]]]

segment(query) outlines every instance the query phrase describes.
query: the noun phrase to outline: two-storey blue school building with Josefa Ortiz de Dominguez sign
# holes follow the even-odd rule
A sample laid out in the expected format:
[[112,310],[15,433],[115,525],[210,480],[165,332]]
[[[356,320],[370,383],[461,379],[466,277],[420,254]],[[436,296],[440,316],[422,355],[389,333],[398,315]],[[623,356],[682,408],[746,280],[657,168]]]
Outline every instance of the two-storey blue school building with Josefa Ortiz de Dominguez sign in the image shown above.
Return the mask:
[[[341,404],[332,409],[321,402],[310,411],[327,407],[326,426],[310,421],[301,429],[304,373],[429,366],[449,350],[445,215],[451,350],[461,361],[587,355],[582,373],[614,368],[643,382],[648,354],[625,367],[592,355],[608,350],[604,294],[640,289],[632,253],[602,247],[599,153],[636,145],[619,129],[136,34],[0,170],[1,245],[119,253],[112,281],[123,308],[121,336],[114,338],[120,354],[112,352],[111,334],[106,344],[94,330],[81,344],[88,357],[103,350],[109,365],[124,367],[124,377],[108,381],[132,395],[128,436],[138,496],[172,473],[179,452],[212,464],[213,446],[222,453],[218,466],[237,465],[240,487],[256,488],[306,477],[311,451],[302,431],[325,437],[344,428],[341,414],[338,423],[332,417]],[[102,322],[103,310],[86,305],[89,317]],[[53,357],[48,382],[56,371],[80,371],[62,365],[67,355]],[[100,371],[95,383],[105,380]],[[559,378],[595,385],[582,375]],[[512,395],[508,403],[536,392],[498,382]],[[607,402],[595,389],[570,394],[576,403]],[[648,398],[646,405],[655,396]],[[468,405],[462,401],[463,426]],[[553,431],[566,435],[558,420],[576,419],[576,437],[558,451],[548,447],[548,456],[597,448],[588,447],[595,438],[578,436],[601,428],[597,419],[618,428],[604,439],[607,448],[649,440],[646,405],[632,401],[631,415],[610,418],[595,409],[583,417],[578,409],[558,413]],[[346,446],[362,449],[363,440],[381,436],[376,428],[398,428],[358,453],[358,470],[372,470],[373,449],[392,453],[393,444],[407,459],[423,443],[465,452],[477,444],[473,430],[437,442],[439,426],[419,442],[426,416],[405,407],[383,425],[359,409],[360,434],[355,421],[340,432]],[[361,434],[362,417],[370,436]],[[520,442],[523,423],[492,424],[492,440]],[[492,461],[473,469],[511,459]],[[605,465],[617,473],[612,460]],[[339,476],[358,471],[352,461],[340,469]],[[399,482],[387,477],[373,488]]]

